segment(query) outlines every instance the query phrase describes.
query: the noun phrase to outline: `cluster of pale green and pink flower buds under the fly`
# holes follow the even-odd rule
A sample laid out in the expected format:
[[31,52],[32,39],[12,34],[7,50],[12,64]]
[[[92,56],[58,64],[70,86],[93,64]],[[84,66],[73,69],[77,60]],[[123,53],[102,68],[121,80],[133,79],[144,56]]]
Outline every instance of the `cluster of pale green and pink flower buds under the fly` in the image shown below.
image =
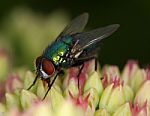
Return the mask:
[[106,65],[95,71],[86,62],[79,76],[77,67],[55,81],[44,101],[47,83],[26,69],[10,72],[5,51],[0,50],[0,115],[6,116],[149,116],[150,70],[128,61],[122,72]]

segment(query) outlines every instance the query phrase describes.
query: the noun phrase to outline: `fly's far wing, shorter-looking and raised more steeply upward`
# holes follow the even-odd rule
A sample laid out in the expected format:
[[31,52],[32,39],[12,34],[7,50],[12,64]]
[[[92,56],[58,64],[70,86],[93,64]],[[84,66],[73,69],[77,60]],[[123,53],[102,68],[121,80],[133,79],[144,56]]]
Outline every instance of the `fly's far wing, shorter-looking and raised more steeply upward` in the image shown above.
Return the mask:
[[64,35],[72,35],[75,33],[82,32],[88,22],[88,18],[89,18],[88,13],[83,13],[77,16],[70,22],[69,25],[65,27],[65,29],[60,33],[58,38]]

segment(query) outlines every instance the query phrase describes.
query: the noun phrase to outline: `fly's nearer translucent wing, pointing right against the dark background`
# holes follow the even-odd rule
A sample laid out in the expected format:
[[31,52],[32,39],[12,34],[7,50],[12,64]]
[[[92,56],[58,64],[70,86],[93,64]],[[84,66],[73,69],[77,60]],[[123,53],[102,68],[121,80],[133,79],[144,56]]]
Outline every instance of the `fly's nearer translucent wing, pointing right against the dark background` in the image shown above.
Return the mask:
[[119,24],[109,25],[89,32],[76,34],[74,35],[74,38],[79,40],[77,46],[80,46],[78,48],[83,50],[91,45],[99,43],[102,39],[110,36],[119,28],[119,26]]

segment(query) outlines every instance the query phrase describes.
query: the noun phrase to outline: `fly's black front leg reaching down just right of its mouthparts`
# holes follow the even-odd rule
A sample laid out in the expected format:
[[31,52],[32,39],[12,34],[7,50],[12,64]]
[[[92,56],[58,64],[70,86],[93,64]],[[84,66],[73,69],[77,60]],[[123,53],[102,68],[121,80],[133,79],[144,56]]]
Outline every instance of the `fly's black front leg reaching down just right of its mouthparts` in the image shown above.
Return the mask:
[[55,75],[54,79],[52,80],[52,83],[50,83],[50,79],[48,80],[48,90],[46,91],[46,93],[45,93],[45,95],[44,95],[44,97],[43,97],[43,100],[46,98],[46,96],[47,96],[48,92],[50,91],[51,87],[53,86],[53,84],[54,84],[56,78],[57,78],[59,75],[61,75],[61,74],[64,74],[64,71],[63,71],[63,70],[60,70],[60,71]]

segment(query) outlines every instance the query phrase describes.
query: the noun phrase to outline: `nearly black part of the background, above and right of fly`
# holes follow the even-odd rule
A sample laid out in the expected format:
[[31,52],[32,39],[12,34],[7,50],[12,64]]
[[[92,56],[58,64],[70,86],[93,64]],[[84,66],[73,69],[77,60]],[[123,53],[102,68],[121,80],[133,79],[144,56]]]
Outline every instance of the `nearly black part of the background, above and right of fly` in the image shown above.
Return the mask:
[[5,0],[0,1],[0,19],[17,6],[29,7],[43,15],[56,9],[65,10],[71,17],[89,12],[88,29],[118,23],[121,27],[112,39],[103,41],[101,64],[122,67],[129,59],[137,60],[141,66],[150,64],[149,0]]

